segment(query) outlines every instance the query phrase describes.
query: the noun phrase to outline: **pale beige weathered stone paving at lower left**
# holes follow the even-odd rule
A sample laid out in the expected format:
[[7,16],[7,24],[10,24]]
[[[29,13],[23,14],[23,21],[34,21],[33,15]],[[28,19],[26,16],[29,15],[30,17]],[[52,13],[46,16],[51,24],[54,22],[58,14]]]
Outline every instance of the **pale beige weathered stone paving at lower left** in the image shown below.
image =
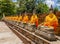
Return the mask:
[[0,22],[0,44],[23,44],[23,42],[4,22]]

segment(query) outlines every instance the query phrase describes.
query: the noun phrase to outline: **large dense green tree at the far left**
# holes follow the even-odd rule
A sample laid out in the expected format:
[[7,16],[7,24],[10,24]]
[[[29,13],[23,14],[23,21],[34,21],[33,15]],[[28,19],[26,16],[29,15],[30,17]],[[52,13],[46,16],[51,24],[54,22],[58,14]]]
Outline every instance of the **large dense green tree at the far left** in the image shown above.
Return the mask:
[[11,0],[2,0],[1,1],[1,12],[5,15],[14,14],[14,3]]

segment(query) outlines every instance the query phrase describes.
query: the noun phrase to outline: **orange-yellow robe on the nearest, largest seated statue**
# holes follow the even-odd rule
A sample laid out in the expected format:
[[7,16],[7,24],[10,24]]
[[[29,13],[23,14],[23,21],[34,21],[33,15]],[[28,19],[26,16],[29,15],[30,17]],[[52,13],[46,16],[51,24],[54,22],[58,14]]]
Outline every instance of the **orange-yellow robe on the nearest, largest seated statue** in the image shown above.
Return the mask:
[[48,26],[48,27],[52,26],[52,27],[54,27],[54,30],[56,31],[56,27],[58,26],[58,19],[57,19],[57,17],[54,14],[53,14],[52,18],[49,17],[49,15],[46,16],[44,25]]

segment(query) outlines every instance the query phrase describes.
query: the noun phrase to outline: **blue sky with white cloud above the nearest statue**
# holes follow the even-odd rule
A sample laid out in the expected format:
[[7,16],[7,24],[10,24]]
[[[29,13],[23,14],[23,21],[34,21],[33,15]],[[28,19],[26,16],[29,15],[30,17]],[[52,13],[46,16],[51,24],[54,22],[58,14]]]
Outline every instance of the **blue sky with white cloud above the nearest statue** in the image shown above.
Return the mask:
[[57,7],[60,10],[60,0],[45,0],[45,3],[48,5],[49,8],[52,5],[53,8]]

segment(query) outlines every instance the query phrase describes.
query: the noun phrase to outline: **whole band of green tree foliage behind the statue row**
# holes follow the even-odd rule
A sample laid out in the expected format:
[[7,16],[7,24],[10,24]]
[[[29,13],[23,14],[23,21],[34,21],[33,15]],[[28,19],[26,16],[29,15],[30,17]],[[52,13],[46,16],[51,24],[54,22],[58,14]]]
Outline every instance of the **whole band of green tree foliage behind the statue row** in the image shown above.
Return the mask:
[[[33,10],[36,10],[36,13],[48,13],[49,7],[43,3],[44,0],[17,0],[13,2],[12,0],[1,0],[0,1],[0,14],[13,15],[24,13],[32,13]],[[57,11],[57,8],[54,8],[54,11]]]

